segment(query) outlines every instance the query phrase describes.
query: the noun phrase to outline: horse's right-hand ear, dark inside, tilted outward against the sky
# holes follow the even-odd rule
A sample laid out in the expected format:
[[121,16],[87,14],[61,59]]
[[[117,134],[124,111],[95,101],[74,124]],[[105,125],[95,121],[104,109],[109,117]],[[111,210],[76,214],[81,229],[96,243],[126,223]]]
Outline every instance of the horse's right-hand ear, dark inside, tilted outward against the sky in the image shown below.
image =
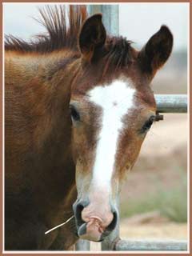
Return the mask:
[[168,27],[161,26],[160,30],[150,38],[138,54],[142,70],[154,75],[170,57],[173,41],[173,35]]

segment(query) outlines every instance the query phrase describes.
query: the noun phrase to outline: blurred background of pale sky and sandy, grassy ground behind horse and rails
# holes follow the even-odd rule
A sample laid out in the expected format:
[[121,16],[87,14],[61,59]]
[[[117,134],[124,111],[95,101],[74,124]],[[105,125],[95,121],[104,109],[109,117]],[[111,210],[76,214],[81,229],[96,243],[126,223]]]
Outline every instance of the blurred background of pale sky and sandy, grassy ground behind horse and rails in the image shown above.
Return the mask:
[[[31,17],[37,4],[5,4],[4,32],[30,38],[44,31]],[[174,49],[152,82],[155,94],[187,94],[188,3],[118,5],[119,34],[140,50],[162,24]],[[122,186],[122,238],[187,238],[187,114],[164,114],[146,136],[138,161]]]

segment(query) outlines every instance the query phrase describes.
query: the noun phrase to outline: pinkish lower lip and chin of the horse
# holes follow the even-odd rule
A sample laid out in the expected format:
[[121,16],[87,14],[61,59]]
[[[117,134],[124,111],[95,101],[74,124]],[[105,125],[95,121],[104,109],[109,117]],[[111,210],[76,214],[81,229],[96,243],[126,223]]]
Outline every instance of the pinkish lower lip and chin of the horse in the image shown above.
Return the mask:
[[102,241],[102,227],[97,222],[83,223],[78,229],[78,237],[94,242]]

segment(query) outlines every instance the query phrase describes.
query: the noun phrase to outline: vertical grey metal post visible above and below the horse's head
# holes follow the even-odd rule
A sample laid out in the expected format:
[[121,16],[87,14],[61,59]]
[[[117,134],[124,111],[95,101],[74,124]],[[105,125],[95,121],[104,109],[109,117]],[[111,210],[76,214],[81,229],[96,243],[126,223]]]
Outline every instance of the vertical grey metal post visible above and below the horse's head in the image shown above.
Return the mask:
[[[90,15],[102,13],[102,22],[107,34],[118,36],[118,5],[87,5],[87,11]],[[118,198],[117,206],[119,206]],[[116,229],[102,242],[102,250],[113,250],[113,242],[118,237],[119,222]],[[75,250],[90,250],[90,242],[80,239],[75,245]]]

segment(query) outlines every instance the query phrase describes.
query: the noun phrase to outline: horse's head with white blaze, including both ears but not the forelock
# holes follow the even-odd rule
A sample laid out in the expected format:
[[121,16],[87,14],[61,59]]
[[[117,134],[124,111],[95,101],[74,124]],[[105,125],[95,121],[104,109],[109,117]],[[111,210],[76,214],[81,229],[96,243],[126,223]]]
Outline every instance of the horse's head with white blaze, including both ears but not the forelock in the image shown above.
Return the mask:
[[105,41],[101,15],[94,15],[80,33],[82,69],[86,71],[76,79],[70,100],[78,189],[74,214],[78,236],[92,241],[101,241],[118,222],[116,198],[122,180],[134,166],[155,121],[149,84],[169,57],[173,38],[162,27],[142,51],[133,51],[130,66],[96,79],[98,70],[105,68],[97,60],[99,50],[105,52]]

